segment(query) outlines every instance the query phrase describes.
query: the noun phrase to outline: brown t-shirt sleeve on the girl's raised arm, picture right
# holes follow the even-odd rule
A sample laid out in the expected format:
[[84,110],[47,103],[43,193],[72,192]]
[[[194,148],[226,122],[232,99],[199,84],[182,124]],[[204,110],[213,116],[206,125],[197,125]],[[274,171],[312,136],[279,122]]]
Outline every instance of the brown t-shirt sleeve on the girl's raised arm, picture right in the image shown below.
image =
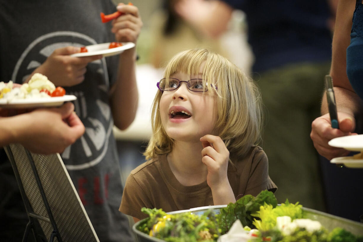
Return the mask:
[[268,158],[266,153],[260,149],[255,153],[252,160],[252,169],[245,194],[257,196],[263,190],[269,190],[273,193],[277,190],[277,186],[269,177],[268,170]]

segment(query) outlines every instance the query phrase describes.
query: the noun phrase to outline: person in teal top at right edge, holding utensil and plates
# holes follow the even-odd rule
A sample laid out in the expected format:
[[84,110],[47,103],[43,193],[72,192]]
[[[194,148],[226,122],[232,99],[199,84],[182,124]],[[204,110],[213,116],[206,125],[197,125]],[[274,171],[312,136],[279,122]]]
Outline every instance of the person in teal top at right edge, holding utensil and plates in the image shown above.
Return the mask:
[[[353,17],[354,14],[354,17]],[[353,21],[352,21],[353,19]],[[334,82],[339,129],[331,127],[326,96],[321,114],[311,124],[311,139],[319,154],[326,159],[323,170],[327,183],[329,211],[334,215],[363,222],[363,169],[338,168],[330,164],[335,157],[350,152],[328,142],[337,137],[363,133],[363,5],[362,0],[340,0],[334,28],[330,75]],[[362,144],[363,145],[363,144]]]

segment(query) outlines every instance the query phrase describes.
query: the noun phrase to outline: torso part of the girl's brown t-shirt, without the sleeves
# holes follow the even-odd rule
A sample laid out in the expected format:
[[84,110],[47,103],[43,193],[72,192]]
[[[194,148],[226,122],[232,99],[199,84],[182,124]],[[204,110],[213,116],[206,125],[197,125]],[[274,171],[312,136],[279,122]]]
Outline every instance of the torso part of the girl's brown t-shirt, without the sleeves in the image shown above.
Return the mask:
[[[254,161],[254,156],[258,152],[262,150],[252,148],[247,156],[235,160],[234,164],[228,164],[227,176],[235,197],[245,194],[250,174],[252,174],[252,162],[258,162]],[[142,169],[136,168],[131,174],[134,173],[135,179],[138,177],[147,179],[147,182],[138,181],[146,185],[142,187],[144,190],[152,190],[147,199],[151,201],[153,207],[169,212],[213,205],[212,191],[207,181],[192,186],[182,185],[172,173],[166,155],[160,156],[147,166],[149,167],[146,168],[147,170],[143,171],[145,167],[141,165]],[[137,174],[140,171],[142,174]]]

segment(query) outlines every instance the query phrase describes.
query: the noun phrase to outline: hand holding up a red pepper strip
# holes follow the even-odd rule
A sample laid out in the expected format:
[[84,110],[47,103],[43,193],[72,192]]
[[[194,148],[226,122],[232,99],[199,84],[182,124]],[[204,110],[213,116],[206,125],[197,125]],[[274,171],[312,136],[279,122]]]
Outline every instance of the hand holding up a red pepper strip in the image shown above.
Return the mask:
[[112,21],[111,32],[115,34],[116,41],[136,43],[143,25],[139,9],[134,5],[119,3],[117,10],[124,14]]

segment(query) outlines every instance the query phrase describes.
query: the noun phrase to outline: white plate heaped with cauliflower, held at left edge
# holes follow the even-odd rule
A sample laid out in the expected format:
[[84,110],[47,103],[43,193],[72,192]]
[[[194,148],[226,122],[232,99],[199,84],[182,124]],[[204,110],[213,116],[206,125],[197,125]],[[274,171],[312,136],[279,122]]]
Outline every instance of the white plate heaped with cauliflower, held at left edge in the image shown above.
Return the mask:
[[64,95],[62,97],[41,97],[15,99],[7,101],[0,99],[0,108],[41,108],[41,107],[56,107],[61,106],[64,102],[76,100],[74,95]]

